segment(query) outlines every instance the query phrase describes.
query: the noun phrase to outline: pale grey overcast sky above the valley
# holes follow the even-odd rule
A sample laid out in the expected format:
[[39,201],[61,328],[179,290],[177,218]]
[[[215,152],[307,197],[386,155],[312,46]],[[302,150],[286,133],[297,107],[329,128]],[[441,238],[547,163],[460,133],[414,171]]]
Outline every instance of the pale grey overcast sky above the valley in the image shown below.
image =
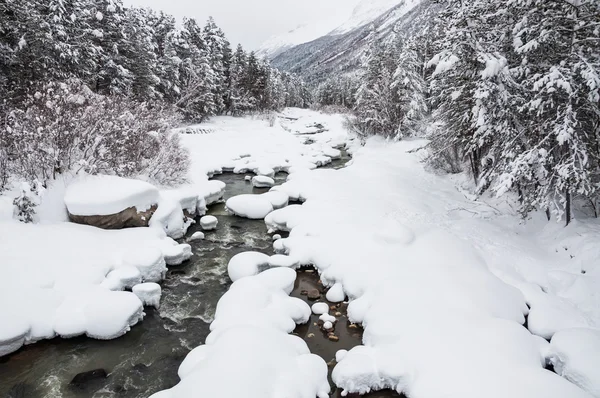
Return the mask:
[[[194,17],[203,24],[212,16],[232,45],[242,43],[248,50],[255,50],[269,37],[290,31],[298,25],[320,21],[339,13],[349,16],[358,1],[124,0],[126,5],[162,10],[179,20]],[[335,19],[339,20],[339,17]]]

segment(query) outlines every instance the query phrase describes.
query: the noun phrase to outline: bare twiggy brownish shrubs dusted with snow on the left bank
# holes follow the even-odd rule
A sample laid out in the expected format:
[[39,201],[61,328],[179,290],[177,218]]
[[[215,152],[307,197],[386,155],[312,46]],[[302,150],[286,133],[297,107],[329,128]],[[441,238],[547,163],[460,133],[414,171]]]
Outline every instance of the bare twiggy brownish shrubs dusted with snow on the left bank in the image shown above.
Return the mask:
[[164,105],[101,96],[78,80],[48,83],[0,126],[1,162],[10,175],[44,185],[82,171],[180,183],[189,155],[170,131],[177,122]]

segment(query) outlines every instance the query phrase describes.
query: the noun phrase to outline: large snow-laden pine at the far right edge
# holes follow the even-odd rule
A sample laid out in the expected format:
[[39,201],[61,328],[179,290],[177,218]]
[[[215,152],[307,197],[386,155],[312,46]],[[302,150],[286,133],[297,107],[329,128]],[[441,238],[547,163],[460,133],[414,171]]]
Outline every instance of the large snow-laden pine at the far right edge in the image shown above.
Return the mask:
[[571,220],[573,196],[596,203],[600,152],[600,3],[510,0],[516,73],[526,90],[525,144],[502,193],[518,184],[524,206]]

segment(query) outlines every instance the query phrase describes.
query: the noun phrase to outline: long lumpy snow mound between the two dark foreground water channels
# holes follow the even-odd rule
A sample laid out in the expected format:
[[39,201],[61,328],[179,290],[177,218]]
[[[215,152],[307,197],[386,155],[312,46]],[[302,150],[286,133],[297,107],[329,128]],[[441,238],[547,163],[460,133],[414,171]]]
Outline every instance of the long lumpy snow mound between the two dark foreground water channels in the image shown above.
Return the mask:
[[327,398],[325,361],[288,334],[310,316],[306,303],[288,296],[295,278],[293,270],[275,268],[234,282],[219,300],[206,344],[179,367],[180,383],[151,398],[198,391],[224,398]]

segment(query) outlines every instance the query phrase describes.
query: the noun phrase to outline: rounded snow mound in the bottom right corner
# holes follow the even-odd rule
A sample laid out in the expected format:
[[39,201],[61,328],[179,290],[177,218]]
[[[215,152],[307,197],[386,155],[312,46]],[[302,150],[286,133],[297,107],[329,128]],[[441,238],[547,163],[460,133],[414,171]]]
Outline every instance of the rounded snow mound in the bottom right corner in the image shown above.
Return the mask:
[[600,330],[565,329],[550,342],[554,371],[594,397],[600,397]]

